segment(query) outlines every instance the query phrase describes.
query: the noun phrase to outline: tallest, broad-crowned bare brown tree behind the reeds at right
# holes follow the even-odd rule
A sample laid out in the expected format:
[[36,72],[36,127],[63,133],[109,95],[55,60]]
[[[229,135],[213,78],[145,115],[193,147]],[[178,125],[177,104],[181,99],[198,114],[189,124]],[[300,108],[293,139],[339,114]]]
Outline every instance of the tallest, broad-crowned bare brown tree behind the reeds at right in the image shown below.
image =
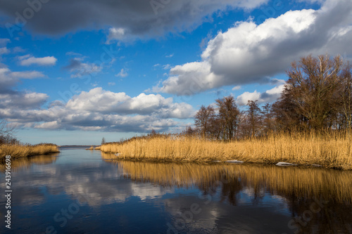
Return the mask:
[[[287,98],[293,110],[303,116],[309,129],[329,127],[327,120],[334,115],[334,98],[339,86],[339,76],[343,62],[340,56],[330,59],[328,55],[301,58],[292,63],[287,71],[289,80],[282,100]],[[330,124],[331,125],[331,124]]]

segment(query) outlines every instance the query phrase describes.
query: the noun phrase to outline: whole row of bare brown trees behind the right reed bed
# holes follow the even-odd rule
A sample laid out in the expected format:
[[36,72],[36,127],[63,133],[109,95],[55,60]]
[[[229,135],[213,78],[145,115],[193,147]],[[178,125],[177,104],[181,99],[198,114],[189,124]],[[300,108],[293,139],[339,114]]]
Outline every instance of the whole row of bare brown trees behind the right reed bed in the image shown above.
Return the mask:
[[239,110],[233,96],[202,105],[192,129],[184,134],[233,140],[272,132],[327,131],[352,128],[352,69],[341,56],[306,56],[291,63],[289,79],[275,103],[248,100]]

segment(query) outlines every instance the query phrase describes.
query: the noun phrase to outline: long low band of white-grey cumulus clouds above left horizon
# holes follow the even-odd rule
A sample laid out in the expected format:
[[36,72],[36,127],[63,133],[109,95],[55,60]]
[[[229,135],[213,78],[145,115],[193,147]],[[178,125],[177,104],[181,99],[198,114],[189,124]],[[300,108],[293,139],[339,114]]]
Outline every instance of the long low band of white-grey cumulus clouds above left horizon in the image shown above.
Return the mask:
[[194,116],[187,103],[145,93],[130,97],[101,88],[82,91],[68,103],[54,101],[44,108],[44,93],[0,95],[0,118],[18,127],[37,129],[80,129],[85,131],[149,132],[184,127],[182,121]]

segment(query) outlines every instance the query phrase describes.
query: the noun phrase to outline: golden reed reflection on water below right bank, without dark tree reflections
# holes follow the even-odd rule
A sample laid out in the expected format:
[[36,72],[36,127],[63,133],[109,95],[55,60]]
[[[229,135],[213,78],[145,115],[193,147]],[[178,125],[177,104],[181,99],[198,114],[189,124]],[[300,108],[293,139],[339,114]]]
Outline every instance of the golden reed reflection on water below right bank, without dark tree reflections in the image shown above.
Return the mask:
[[352,171],[260,164],[115,162],[111,155],[102,153],[102,157],[118,164],[125,177],[158,186],[197,186],[209,191],[228,184],[232,188],[237,185],[239,190],[251,188],[255,196],[269,192],[287,199],[317,197],[320,200],[352,202]]

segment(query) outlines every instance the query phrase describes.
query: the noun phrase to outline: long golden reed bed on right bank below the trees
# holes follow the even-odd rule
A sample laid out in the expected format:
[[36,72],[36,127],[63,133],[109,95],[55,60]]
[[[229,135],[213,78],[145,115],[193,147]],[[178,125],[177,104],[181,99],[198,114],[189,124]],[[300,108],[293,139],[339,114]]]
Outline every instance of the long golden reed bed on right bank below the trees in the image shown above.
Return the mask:
[[241,160],[275,164],[320,164],[352,169],[352,136],[331,134],[272,134],[241,141],[207,141],[185,136],[134,138],[125,143],[101,145],[101,151],[119,153],[117,160],[153,162],[209,162]]

